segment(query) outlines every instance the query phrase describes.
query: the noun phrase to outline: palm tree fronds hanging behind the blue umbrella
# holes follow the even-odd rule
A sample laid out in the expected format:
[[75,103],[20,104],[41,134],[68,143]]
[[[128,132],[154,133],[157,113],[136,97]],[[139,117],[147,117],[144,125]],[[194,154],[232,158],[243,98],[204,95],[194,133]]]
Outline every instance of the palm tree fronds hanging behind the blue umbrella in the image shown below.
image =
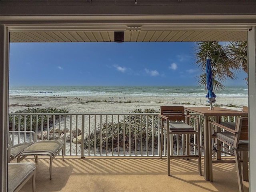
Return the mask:
[[206,89],[206,58],[211,58],[212,82],[216,91],[223,90],[227,79],[236,79],[236,74],[243,69],[247,73],[246,42],[230,42],[228,46],[218,42],[198,42],[196,46],[196,62],[203,74],[197,76],[199,86]]

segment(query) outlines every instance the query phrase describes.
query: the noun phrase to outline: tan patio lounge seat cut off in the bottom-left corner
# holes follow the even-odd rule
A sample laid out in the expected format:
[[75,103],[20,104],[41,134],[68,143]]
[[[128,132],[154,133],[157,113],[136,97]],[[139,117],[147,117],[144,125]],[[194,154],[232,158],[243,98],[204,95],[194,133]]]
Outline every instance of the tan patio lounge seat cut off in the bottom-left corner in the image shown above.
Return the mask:
[[[8,144],[8,158],[10,159],[11,146]],[[32,191],[36,191],[36,166],[33,163],[8,163],[7,190],[18,192],[32,177]]]

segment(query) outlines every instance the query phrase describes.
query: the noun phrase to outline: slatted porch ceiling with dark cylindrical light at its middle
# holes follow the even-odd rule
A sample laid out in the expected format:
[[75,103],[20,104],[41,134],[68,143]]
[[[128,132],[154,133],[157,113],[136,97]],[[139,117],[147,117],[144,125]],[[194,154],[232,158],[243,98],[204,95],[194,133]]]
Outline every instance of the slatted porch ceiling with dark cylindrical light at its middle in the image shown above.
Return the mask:
[[[246,31],[125,31],[125,42],[246,41]],[[11,32],[10,42],[114,42],[113,31]]]

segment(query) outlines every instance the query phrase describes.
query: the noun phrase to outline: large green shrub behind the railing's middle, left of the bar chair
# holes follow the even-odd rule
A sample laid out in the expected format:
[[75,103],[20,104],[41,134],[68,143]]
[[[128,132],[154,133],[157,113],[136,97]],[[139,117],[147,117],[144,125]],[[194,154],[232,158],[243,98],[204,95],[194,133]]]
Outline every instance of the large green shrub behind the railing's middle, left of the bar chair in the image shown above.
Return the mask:
[[[156,111],[154,109],[136,109],[133,113],[159,113],[159,110]],[[112,148],[112,129],[113,129],[113,148],[118,146],[118,132],[119,132],[119,146],[124,149],[129,148],[131,145],[131,150],[135,149],[135,135],[136,142],[139,144],[142,142],[143,145],[146,145],[146,139],[148,135],[148,145],[152,146],[152,138],[154,137],[154,145],[158,144],[158,116],[154,116],[153,130],[152,130],[152,116],[148,116],[148,134],[147,134],[147,118],[146,116],[124,116],[124,120],[121,120],[119,123],[106,122],[101,124],[102,127],[102,149],[106,150],[106,138],[107,142],[107,150],[111,150]],[[135,130],[135,122],[136,122],[136,130]],[[141,127],[142,124],[142,128]],[[119,130],[119,131],[118,131]],[[153,134],[154,132],[154,134]],[[129,134],[130,133],[130,134]],[[129,138],[131,143],[129,144]],[[96,139],[96,148],[100,148],[100,126],[96,130],[96,137],[94,138],[94,132],[90,134],[90,146],[91,148],[94,146],[94,141]],[[85,136],[84,142],[85,149],[89,147],[89,136]]]

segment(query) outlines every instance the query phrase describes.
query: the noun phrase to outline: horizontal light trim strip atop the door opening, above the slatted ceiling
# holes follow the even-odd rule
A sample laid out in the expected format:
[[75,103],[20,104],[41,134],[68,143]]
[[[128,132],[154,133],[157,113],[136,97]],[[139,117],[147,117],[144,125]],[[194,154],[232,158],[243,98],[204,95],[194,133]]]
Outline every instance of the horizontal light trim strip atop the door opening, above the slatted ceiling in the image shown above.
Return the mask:
[[[255,17],[256,20],[256,17]],[[57,22],[57,21],[56,21]],[[256,23],[254,24],[256,25]],[[8,24],[10,32],[36,31],[248,31],[252,24]]]

